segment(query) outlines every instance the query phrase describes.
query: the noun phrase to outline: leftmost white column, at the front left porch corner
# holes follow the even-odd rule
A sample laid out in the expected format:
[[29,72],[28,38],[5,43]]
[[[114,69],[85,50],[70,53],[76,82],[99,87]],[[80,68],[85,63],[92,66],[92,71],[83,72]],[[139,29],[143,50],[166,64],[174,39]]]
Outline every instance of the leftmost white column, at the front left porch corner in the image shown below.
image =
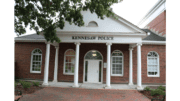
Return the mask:
[[50,43],[46,43],[46,60],[44,68],[44,81],[43,85],[48,85],[48,75],[49,75],[49,55],[50,55]]

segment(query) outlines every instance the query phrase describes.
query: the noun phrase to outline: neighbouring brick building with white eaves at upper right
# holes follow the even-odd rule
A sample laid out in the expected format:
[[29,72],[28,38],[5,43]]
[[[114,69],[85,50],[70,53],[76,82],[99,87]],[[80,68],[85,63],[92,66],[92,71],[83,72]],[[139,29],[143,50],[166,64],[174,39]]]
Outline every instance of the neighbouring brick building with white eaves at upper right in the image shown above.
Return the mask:
[[166,36],[166,0],[159,0],[139,22],[140,28],[147,28],[160,36]]

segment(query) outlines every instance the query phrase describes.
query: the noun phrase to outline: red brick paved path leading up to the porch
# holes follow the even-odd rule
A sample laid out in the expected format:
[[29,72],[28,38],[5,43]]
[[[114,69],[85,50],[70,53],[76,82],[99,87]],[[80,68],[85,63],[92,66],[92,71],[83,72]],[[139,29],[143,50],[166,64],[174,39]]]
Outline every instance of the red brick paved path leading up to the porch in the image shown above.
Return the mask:
[[136,90],[46,87],[20,101],[150,101]]

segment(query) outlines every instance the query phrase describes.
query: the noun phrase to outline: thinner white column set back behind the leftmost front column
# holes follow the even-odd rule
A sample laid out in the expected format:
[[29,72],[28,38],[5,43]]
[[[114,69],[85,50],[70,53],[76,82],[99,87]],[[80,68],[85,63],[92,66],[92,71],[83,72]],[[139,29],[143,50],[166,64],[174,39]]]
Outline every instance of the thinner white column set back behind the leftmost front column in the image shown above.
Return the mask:
[[59,46],[56,46],[56,53],[55,53],[55,63],[54,63],[54,80],[53,82],[57,82],[58,76],[58,53],[59,53]]

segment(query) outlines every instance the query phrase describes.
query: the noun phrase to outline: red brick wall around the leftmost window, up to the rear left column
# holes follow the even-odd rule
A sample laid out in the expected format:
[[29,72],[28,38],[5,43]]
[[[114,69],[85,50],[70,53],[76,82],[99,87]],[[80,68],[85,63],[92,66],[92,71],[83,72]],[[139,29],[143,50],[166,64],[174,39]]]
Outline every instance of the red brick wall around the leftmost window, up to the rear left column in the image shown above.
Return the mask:
[[[30,64],[31,64],[31,52],[39,48],[42,51],[42,66],[41,73],[30,73]],[[51,46],[51,52],[53,53],[53,47]],[[46,44],[45,43],[29,43],[29,42],[16,42],[15,43],[15,76],[18,78],[27,78],[27,79],[41,79],[44,78],[44,64],[45,64],[45,54],[46,54]],[[50,57],[53,57],[50,54]],[[52,67],[54,64],[52,61],[54,58],[50,59],[49,67],[49,79],[52,79]]]

